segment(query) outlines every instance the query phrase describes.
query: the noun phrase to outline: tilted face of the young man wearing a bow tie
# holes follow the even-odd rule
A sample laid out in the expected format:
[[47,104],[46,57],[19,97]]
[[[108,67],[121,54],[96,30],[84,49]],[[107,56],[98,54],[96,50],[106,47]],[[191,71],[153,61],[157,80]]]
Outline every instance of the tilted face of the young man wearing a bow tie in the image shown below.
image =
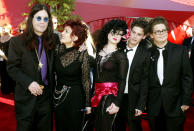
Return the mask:
[[136,46],[144,38],[144,30],[141,27],[134,26],[131,30],[129,45],[131,44],[133,46]]

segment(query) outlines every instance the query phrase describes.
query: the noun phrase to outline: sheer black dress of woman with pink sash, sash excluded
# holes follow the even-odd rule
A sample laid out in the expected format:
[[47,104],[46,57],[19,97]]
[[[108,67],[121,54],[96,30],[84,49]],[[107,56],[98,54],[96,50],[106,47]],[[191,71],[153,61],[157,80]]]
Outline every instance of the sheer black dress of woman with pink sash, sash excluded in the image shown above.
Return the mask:
[[[115,115],[109,115],[106,111],[111,103],[120,105],[126,84],[128,60],[126,54],[117,50],[105,56],[97,54],[95,60],[95,83],[118,83],[117,96],[105,95],[102,97],[96,111],[95,131],[111,131]],[[96,87],[95,87],[96,90]]]

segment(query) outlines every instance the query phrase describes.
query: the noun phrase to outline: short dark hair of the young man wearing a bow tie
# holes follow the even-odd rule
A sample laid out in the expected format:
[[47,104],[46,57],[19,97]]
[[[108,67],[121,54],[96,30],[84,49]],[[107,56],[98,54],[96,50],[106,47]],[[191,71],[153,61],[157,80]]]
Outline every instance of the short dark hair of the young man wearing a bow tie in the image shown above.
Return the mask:
[[134,26],[142,28],[144,31],[144,35],[146,35],[149,32],[149,22],[146,20],[145,17],[139,17],[134,19],[134,21],[131,24],[131,29],[133,29]]

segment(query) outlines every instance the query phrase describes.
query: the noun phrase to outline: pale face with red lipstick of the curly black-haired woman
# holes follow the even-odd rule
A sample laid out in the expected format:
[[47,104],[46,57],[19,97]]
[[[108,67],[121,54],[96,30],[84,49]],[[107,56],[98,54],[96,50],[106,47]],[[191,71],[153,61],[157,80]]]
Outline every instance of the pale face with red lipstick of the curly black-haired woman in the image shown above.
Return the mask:
[[118,44],[121,41],[122,35],[123,31],[117,30],[116,32],[114,32],[113,30],[111,30],[108,33],[108,42],[112,44]]

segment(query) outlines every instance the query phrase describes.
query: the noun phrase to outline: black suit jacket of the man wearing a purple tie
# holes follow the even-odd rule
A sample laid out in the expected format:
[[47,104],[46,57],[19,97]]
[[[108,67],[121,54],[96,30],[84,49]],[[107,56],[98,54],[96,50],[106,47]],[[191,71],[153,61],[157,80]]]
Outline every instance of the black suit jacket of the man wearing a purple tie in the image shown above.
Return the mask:
[[[55,38],[56,42],[59,42],[58,36]],[[54,49],[46,50],[46,56],[48,62],[48,90],[52,93],[54,85]],[[13,37],[10,41],[7,70],[9,75],[16,81],[15,108],[17,118],[29,116],[35,108],[37,97],[30,93],[28,87],[33,81],[40,84],[41,77],[40,71],[38,71],[38,58],[35,50],[28,50],[21,36]]]

